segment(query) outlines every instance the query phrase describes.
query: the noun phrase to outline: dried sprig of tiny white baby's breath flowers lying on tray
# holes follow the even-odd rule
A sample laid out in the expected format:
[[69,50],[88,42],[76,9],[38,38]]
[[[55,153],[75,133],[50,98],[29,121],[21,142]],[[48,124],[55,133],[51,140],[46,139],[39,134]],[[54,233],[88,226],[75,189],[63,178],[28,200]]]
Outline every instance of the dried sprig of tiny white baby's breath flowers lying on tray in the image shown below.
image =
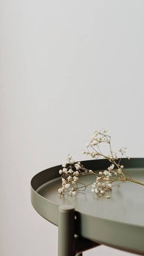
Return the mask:
[[[101,144],[107,144],[109,146],[108,155],[104,154],[101,150]],[[104,158],[108,159],[110,166],[107,170],[100,172],[93,172],[93,170],[86,169],[81,162],[73,160],[69,154],[67,163],[62,164],[62,168],[59,170],[59,174],[62,178],[62,186],[58,189],[60,194],[68,194],[76,196],[79,191],[85,191],[87,186],[92,185],[92,192],[98,194],[99,197],[110,198],[108,192],[113,188],[125,181],[132,181],[139,185],[144,185],[140,181],[135,180],[130,174],[126,172],[124,166],[121,165],[121,159],[126,156],[126,147],[121,147],[118,152],[113,152],[111,146],[111,137],[107,134],[107,129],[101,131],[94,131],[90,142],[86,145],[87,150],[83,151],[84,155],[91,156],[92,158]],[[129,156],[126,158],[130,159]],[[95,175],[95,179],[92,183],[84,184],[79,181],[79,177],[82,175]],[[114,185],[113,185],[114,183]],[[116,184],[115,184],[116,183]]]

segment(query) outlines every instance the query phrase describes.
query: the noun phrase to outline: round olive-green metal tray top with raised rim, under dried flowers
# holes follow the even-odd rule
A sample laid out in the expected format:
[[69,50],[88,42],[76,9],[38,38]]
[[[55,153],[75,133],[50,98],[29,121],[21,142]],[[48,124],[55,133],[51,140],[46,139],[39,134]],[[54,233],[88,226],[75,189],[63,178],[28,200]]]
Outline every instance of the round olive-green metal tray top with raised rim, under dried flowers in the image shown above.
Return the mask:
[[[106,159],[81,162],[95,172],[110,165]],[[124,169],[144,183],[144,158],[123,158]],[[99,198],[88,186],[76,197],[60,195],[60,166],[43,170],[32,178],[31,202],[35,210],[49,222],[58,224],[59,205],[73,205],[76,210],[76,234],[99,244],[144,254],[144,186],[126,181],[110,192],[112,198]],[[94,175],[80,177],[84,183]]]

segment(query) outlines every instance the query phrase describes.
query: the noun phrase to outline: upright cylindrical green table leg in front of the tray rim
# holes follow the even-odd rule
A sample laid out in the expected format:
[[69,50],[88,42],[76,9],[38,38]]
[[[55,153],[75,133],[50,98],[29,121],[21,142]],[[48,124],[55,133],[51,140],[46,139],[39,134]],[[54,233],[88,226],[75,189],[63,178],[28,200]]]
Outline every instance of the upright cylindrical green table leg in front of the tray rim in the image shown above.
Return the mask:
[[74,251],[74,207],[60,205],[58,256],[74,256]]

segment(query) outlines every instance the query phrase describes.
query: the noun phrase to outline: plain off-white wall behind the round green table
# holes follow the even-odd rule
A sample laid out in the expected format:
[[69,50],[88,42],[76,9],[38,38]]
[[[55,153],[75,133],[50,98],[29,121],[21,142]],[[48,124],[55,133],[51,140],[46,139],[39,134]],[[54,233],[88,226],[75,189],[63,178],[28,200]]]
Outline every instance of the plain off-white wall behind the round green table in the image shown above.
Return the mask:
[[[144,1],[1,0],[1,256],[57,255],[30,180],[106,127],[143,153]],[[96,251],[98,250],[98,252]],[[84,255],[126,255],[99,247]]]

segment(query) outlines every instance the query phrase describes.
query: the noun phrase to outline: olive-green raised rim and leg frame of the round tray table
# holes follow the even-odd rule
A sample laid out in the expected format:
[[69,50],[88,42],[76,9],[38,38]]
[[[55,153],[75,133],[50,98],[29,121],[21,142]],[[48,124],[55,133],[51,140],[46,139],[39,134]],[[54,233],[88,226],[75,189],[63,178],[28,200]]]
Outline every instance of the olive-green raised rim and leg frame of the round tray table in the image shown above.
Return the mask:
[[[87,169],[107,168],[106,159],[82,161]],[[144,158],[123,158],[128,168],[143,168]],[[59,227],[59,256],[81,255],[87,249],[104,244],[126,252],[144,255],[143,225],[130,225],[126,222],[102,219],[79,212],[71,205],[61,205],[46,199],[38,193],[43,184],[59,177],[60,166],[54,166],[36,174],[31,180],[31,202],[38,214]],[[64,204],[64,203],[63,203]],[[63,216],[63,217],[62,217]],[[64,217],[65,216],[65,217]],[[65,223],[67,219],[67,223]],[[98,230],[110,230],[110,236],[98,234]],[[116,232],[118,230],[118,232]],[[129,236],[126,236],[128,230]],[[125,240],[125,237],[127,239]],[[119,238],[121,240],[119,241]],[[67,243],[66,243],[67,241]],[[66,246],[68,244],[68,246]]]

